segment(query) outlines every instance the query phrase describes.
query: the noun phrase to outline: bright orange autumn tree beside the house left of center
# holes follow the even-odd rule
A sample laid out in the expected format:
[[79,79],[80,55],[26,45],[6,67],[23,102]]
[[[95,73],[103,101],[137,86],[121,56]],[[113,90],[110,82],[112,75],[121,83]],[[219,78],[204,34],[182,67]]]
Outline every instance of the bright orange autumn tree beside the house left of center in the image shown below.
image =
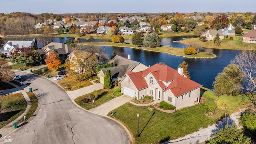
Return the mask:
[[61,64],[60,57],[56,53],[55,50],[51,50],[49,55],[46,57],[45,62],[47,64],[47,68],[49,70],[54,70],[56,71]]

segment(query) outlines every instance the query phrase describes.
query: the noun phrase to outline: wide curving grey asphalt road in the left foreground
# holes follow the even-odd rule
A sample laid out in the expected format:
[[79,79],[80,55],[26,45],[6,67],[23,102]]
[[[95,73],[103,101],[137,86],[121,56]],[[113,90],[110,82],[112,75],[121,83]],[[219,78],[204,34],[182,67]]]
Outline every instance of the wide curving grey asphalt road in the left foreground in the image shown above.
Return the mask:
[[54,82],[34,74],[16,73],[36,92],[40,105],[36,116],[10,135],[12,144],[130,143],[118,123],[81,110]]

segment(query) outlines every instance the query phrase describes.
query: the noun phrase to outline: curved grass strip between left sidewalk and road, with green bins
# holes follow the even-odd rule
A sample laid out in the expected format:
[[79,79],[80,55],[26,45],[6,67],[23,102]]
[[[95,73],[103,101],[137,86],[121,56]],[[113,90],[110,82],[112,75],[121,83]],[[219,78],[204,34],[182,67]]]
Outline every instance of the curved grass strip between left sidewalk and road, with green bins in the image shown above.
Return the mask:
[[28,94],[28,97],[30,98],[30,102],[31,102],[30,109],[26,113],[26,120],[24,120],[24,118],[22,118],[18,121],[18,123],[27,121],[34,114],[34,112],[36,111],[37,106],[38,106],[38,100],[37,100],[35,94],[33,92],[26,92],[26,93]]

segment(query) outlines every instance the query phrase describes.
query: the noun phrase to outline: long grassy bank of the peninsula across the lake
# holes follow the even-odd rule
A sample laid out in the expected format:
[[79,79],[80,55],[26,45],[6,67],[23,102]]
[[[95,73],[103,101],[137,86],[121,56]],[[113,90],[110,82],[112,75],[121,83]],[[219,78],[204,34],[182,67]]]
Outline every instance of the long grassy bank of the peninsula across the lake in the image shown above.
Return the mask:
[[172,48],[169,46],[160,46],[157,48],[144,48],[144,47],[137,47],[132,45],[132,43],[126,42],[124,44],[122,43],[114,43],[114,42],[82,42],[79,44],[84,44],[84,45],[99,45],[99,46],[120,46],[120,47],[129,47],[129,48],[137,48],[137,49],[141,49],[141,50],[148,50],[148,51],[154,51],[154,52],[165,52],[167,54],[172,54],[172,55],[176,55],[176,56],[184,56],[187,58],[212,58],[215,57],[214,54],[209,54],[207,55],[205,52],[200,52],[198,54],[192,54],[192,55],[186,55],[183,52],[182,48]]

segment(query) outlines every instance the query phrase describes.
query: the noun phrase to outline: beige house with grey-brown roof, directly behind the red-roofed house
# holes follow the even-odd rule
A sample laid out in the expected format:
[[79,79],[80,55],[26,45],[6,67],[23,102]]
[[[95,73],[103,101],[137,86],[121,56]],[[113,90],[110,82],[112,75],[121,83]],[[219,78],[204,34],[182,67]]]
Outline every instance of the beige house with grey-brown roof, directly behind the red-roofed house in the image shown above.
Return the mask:
[[98,72],[98,76],[100,78],[100,83],[104,84],[104,76],[106,70],[110,70],[112,74],[112,82],[121,81],[125,77],[125,73],[132,71],[132,72],[139,72],[148,68],[144,64],[140,62],[136,62],[130,59],[130,55],[128,58],[124,58],[122,56],[116,55],[112,58],[108,63],[114,62],[115,66],[110,68],[102,68]]

